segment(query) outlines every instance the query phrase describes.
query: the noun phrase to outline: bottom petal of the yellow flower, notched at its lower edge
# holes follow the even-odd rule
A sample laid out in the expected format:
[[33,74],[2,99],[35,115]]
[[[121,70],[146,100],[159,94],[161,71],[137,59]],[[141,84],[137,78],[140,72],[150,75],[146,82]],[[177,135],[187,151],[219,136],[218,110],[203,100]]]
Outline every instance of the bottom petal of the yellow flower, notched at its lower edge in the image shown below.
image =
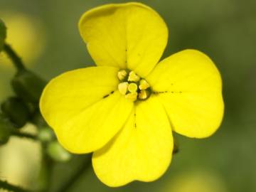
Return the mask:
[[93,169],[108,186],[154,181],[171,162],[174,142],[169,120],[159,100],[139,102],[124,128],[92,156]]

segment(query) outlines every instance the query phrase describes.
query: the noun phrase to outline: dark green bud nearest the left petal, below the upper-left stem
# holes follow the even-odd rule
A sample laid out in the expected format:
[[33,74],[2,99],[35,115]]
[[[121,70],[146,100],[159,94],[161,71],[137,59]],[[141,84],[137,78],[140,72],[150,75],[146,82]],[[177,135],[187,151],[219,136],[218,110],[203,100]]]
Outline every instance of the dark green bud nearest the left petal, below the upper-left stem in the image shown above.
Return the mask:
[[29,70],[19,70],[11,80],[11,85],[18,97],[26,102],[37,104],[46,86],[46,81]]

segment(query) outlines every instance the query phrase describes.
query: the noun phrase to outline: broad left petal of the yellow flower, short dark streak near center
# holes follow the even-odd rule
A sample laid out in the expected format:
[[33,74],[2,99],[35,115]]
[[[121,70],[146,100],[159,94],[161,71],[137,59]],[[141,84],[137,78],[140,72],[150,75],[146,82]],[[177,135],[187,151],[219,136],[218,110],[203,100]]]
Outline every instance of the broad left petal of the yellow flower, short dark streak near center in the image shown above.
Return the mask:
[[60,144],[73,153],[87,153],[110,141],[132,110],[117,90],[117,68],[73,70],[51,80],[40,109]]

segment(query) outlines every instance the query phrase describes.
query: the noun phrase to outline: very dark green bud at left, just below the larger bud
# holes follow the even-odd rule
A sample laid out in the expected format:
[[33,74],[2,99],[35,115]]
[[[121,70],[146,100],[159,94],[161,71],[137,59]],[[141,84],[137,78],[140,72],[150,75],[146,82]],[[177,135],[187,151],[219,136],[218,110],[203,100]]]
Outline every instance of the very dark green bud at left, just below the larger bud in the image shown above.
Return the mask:
[[30,117],[28,107],[18,97],[9,97],[1,104],[1,111],[15,127],[23,127]]

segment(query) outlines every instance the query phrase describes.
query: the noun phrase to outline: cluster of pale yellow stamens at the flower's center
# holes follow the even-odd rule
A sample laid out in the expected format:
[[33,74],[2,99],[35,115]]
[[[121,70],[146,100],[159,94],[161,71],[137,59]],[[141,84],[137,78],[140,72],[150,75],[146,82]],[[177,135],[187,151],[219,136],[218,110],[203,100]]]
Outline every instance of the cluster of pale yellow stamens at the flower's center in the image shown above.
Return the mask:
[[118,90],[128,100],[146,100],[151,95],[149,83],[133,70],[119,70],[117,77],[120,80]]

